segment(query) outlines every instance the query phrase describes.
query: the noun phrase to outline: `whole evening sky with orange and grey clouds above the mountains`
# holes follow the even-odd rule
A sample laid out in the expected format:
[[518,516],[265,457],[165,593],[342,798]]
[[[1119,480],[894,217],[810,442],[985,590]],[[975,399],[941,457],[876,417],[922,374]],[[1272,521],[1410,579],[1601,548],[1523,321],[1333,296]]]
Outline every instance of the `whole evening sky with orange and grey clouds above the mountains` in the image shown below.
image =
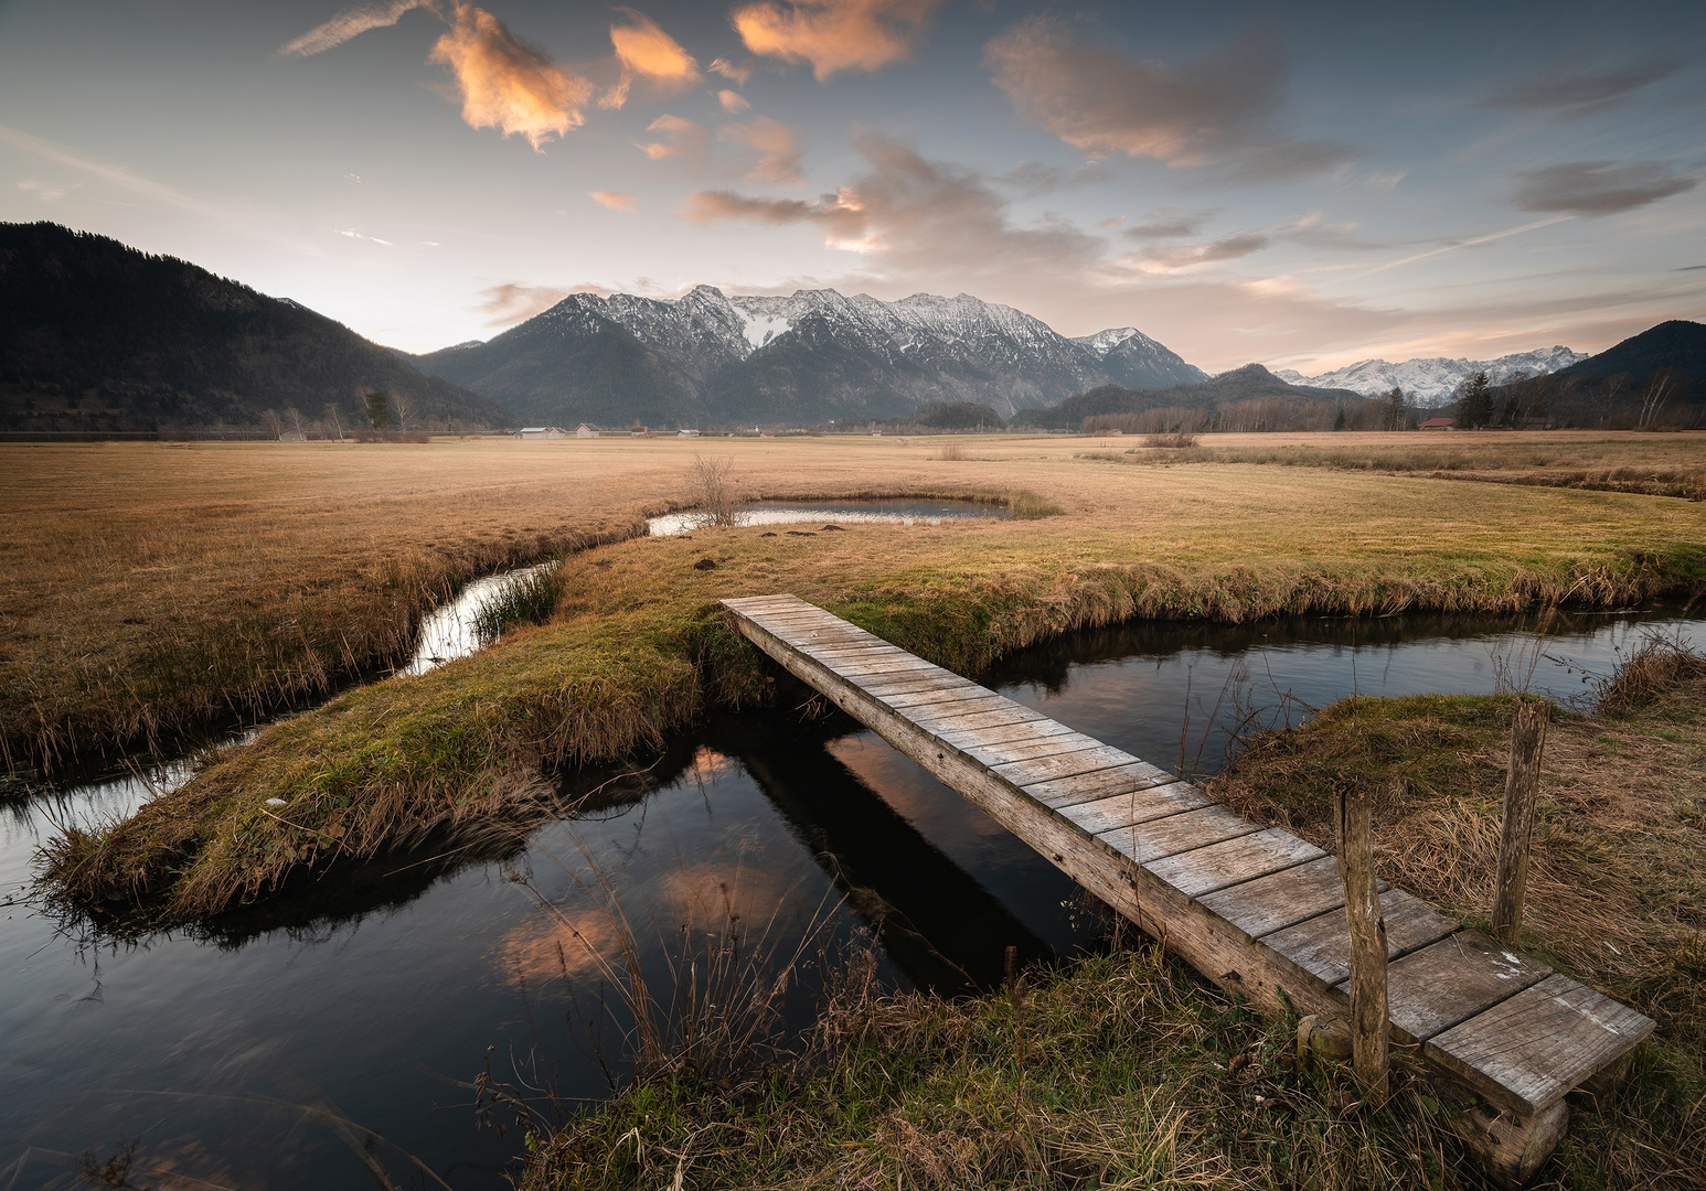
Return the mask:
[[971,293],[1191,363],[1706,317],[1706,5],[0,0],[0,222],[408,351]]

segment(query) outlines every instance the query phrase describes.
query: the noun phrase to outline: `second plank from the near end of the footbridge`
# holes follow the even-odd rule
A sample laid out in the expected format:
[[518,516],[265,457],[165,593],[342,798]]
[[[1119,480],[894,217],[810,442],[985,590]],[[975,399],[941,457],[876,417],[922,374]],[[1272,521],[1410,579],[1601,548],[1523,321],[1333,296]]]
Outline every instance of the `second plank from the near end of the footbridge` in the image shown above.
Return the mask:
[[1392,1029],[1406,1043],[1425,1043],[1551,975],[1479,930],[1459,930],[1387,968]]

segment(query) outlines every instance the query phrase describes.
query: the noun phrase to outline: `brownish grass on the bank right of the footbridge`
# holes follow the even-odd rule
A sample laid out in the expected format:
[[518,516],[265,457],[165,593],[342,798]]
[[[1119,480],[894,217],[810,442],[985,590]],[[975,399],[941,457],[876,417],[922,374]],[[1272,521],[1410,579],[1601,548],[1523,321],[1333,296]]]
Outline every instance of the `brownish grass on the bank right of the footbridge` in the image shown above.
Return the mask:
[[[1211,791],[1331,847],[1365,789],[1380,876],[1486,925],[1513,697],[1348,699],[1256,738]],[[1699,1186],[1706,1169],[1706,659],[1636,649],[1547,733],[1523,947],[1658,1021],[1626,1087],[1583,1104],[1566,1186]]]

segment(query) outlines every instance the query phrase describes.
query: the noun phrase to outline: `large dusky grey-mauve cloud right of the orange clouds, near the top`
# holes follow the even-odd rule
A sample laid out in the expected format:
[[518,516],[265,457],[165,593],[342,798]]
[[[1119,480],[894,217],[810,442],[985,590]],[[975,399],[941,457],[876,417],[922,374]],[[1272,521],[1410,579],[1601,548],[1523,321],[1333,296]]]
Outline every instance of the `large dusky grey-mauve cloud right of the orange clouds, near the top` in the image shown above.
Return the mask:
[[1273,128],[1286,66],[1262,37],[1172,68],[1082,44],[1061,22],[1032,17],[984,46],[984,61],[1024,119],[1092,155],[1215,164],[1233,181],[1320,174],[1355,155]]

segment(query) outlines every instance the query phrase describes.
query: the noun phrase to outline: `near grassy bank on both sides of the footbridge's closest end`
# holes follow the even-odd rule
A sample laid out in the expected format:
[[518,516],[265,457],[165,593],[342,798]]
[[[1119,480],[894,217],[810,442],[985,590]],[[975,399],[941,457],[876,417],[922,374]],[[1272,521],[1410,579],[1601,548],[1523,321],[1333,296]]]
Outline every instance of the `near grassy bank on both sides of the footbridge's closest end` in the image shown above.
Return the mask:
[[[1216,789],[1322,842],[1327,791],[1378,794],[1384,874],[1477,922],[1510,714],[1501,697],[1344,700],[1254,741]],[[1616,1092],[1575,1104],[1532,1186],[1701,1186],[1703,808],[1706,659],[1653,651],[1554,724],[1523,942],[1660,1029]],[[959,1002],[879,995],[855,964],[797,1055],[653,1075],[537,1131],[524,1186],[1481,1186],[1425,1084],[1375,1111],[1343,1070],[1295,1063],[1293,1024],[1148,949]]]

